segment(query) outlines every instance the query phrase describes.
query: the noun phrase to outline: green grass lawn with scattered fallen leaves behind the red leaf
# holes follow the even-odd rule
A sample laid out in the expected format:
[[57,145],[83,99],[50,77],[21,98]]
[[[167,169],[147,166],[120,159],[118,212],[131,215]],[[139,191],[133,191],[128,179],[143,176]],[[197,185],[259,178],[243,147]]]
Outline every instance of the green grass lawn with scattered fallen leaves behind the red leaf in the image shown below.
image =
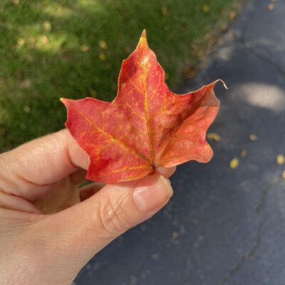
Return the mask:
[[[64,127],[60,97],[112,100],[143,28],[175,88],[234,0],[1,0],[0,150]],[[189,70],[187,71],[189,73]]]

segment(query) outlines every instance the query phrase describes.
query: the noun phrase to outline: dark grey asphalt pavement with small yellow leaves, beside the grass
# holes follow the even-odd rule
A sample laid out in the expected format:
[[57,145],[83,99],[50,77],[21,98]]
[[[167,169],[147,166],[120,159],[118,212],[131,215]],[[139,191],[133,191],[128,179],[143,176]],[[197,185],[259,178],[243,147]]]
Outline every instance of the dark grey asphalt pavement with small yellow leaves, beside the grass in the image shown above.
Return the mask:
[[221,110],[210,132],[222,140],[210,142],[214,158],[180,165],[167,207],[103,249],[74,284],[285,284],[285,164],[276,163],[285,155],[284,15],[284,0],[247,2],[180,89],[217,78],[229,86],[216,88]]

